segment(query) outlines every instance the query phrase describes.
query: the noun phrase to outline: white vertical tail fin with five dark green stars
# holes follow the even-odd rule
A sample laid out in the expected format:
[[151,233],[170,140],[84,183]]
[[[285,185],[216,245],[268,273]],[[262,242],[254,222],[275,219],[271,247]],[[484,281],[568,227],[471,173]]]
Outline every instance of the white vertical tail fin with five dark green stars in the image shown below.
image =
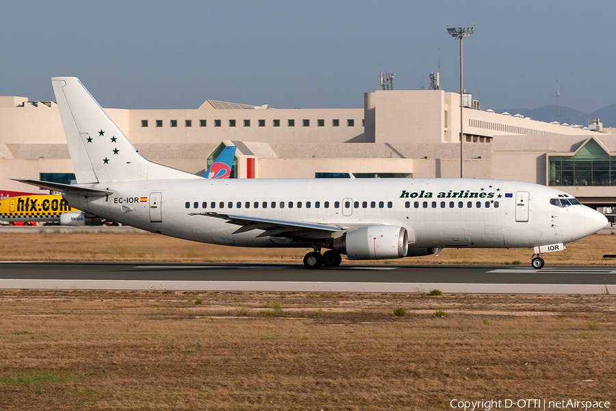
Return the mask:
[[53,77],[78,184],[201,178],[146,160],[76,77]]

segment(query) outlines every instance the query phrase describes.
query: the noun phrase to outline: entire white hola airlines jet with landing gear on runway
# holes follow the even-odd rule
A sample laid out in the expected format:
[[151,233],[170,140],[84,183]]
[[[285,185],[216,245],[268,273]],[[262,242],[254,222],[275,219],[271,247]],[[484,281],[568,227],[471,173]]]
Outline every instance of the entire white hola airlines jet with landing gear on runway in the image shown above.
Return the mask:
[[[52,78],[77,184],[70,206],[153,233],[238,247],[305,247],[308,269],[446,247],[562,251],[608,223],[556,188],[491,179],[205,179],[146,160],[75,77]],[[321,253],[322,249],[327,249]]]

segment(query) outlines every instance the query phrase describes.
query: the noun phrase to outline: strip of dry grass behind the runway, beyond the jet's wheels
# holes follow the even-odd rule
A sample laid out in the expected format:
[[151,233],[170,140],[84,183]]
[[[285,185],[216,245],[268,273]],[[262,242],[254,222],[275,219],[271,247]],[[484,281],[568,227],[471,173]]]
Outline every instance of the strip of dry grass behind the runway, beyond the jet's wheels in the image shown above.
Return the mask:
[[[198,261],[294,262],[305,249],[253,249],[209,245],[159,234],[77,232],[36,234],[0,232],[2,260],[39,261]],[[616,264],[602,260],[616,254],[616,235],[595,234],[567,245],[567,250],[544,255],[546,264]],[[530,264],[531,249],[444,249],[440,256],[390,260],[412,264]],[[365,263],[365,262],[361,262]]]

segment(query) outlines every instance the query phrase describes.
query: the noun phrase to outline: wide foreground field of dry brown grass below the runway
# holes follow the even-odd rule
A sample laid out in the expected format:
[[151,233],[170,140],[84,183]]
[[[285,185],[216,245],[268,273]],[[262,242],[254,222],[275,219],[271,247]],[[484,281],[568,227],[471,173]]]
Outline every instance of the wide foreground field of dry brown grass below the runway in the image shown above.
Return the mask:
[[0,409],[614,401],[615,298],[0,291]]

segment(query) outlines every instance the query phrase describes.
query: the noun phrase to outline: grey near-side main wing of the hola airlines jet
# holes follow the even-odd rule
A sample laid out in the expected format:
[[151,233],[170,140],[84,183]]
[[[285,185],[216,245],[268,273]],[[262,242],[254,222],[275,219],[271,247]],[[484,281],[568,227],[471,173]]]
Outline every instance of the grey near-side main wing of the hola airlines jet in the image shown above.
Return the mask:
[[227,223],[230,224],[241,225],[242,227],[236,229],[233,234],[248,232],[253,229],[264,230],[264,232],[259,234],[257,237],[329,237],[332,233],[342,232],[340,227],[336,227],[334,225],[305,223],[303,221],[264,219],[261,217],[242,216],[238,214],[220,214],[217,212],[198,212],[189,213],[188,215],[215,217],[216,219],[226,220]]

